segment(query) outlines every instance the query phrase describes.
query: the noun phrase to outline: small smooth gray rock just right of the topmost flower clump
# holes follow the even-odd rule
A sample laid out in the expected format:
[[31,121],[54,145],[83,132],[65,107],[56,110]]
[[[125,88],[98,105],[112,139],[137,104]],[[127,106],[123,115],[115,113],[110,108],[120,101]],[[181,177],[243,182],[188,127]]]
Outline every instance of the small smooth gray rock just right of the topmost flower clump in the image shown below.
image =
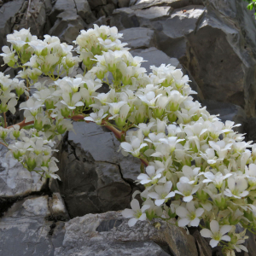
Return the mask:
[[154,31],[146,27],[132,27],[120,31],[123,33],[123,43],[131,49],[156,46]]

